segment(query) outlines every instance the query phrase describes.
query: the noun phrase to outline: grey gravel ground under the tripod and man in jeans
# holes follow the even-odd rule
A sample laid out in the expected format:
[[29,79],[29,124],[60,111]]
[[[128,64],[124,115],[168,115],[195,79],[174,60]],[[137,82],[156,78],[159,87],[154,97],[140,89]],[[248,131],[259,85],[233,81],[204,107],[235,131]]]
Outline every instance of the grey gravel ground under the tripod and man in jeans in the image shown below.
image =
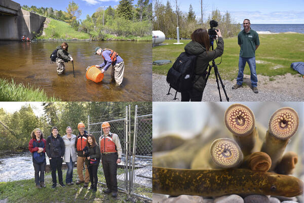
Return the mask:
[[[258,80],[258,94],[250,88],[250,75],[244,75],[243,87],[237,90],[232,89],[236,79],[223,80],[229,101],[304,101],[304,78],[299,74],[276,76],[274,81],[270,81],[268,76],[258,75]],[[226,101],[220,82],[219,87],[222,101]],[[172,95],[166,95],[168,90],[166,75],[153,74],[153,101],[180,101],[180,93],[176,96],[178,100],[173,100],[175,90],[171,89]],[[202,101],[220,101],[214,78],[208,79]]]

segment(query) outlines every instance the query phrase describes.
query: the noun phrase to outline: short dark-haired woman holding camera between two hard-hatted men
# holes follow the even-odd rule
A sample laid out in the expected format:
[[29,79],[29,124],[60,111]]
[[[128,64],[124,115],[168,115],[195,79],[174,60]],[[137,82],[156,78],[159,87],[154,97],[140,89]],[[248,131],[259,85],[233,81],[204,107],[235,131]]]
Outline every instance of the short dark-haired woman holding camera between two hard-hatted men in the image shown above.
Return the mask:
[[[85,150],[87,149],[87,150]],[[97,169],[100,160],[100,149],[96,143],[95,137],[93,135],[88,136],[87,147],[85,147],[84,152],[86,159],[86,165],[88,166],[88,171],[90,175],[91,187],[93,192],[97,191]]]

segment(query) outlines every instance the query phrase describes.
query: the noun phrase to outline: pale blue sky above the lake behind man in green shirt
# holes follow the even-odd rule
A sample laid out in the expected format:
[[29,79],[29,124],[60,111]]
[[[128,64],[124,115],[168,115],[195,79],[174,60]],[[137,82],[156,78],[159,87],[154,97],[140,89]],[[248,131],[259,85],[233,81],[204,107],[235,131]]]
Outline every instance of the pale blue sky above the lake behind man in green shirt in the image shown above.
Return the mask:
[[[169,1],[175,6],[175,0]],[[162,2],[166,5],[167,0]],[[196,16],[200,18],[200,0],[177,2],[183,12],[188,12],[189,5],[192,4]],[[203,8],[206,8],[204,18],[208,18],[212,10],[218,9],[221,14],[228,11],[236,23],[243,23],[243,20],[248,18],[251,24],[304,24],[303,0],[203,0],[203,5]]]

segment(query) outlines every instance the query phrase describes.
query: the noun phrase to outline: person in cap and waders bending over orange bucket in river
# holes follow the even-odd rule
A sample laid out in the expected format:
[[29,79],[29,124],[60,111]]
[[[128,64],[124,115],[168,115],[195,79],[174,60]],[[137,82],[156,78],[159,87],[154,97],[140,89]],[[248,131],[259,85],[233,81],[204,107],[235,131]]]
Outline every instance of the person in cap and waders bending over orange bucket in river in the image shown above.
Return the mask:
[[110,65],[112,65],[112,70],[111,70],[111,77],[112,80],[114,79],[116,84],[120,86],[123,82],[124,78],[124,69],[125,69],[125,62],[118,55],[117,52],[110,50],[110,49],[101,49],[100,47],[95,48],[95,54],[98,56],[102,56],[103,58],[103,63],[100,65],[95,65],[97,68],[102,68],[101,72],[104,73]]

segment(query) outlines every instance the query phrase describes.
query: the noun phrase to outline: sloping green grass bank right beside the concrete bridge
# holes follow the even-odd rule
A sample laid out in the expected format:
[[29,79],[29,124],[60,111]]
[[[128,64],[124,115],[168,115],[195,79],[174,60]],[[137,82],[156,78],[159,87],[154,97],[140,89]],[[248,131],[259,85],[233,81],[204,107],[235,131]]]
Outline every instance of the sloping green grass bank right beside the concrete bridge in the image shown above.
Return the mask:
[[51,19],[48,27],[44,30],[45,36],[38,36],[37,39],[88,39],[90,35],[84,32],[75,31],[68,23]]

